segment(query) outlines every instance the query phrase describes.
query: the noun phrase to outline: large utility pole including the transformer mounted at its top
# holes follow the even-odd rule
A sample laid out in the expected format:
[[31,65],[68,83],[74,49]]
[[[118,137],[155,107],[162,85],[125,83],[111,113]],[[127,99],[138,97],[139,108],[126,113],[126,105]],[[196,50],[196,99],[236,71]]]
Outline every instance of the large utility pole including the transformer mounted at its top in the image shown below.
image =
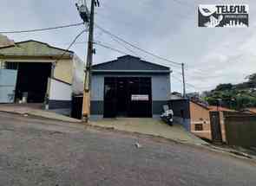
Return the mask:
[[77,10],[84,22],[89,23],[89,42],[87,50],[87,61],[85,67],[83,100],[82,100],[82,121],[88,122],[90,115],[90,87],[91,87],[91,67],[94,55],[94,22],[95,22],[95,6],[99,6],[98,0],[91,0],[90,12],[87,9],[86,1],[82,6],[76,4]]

